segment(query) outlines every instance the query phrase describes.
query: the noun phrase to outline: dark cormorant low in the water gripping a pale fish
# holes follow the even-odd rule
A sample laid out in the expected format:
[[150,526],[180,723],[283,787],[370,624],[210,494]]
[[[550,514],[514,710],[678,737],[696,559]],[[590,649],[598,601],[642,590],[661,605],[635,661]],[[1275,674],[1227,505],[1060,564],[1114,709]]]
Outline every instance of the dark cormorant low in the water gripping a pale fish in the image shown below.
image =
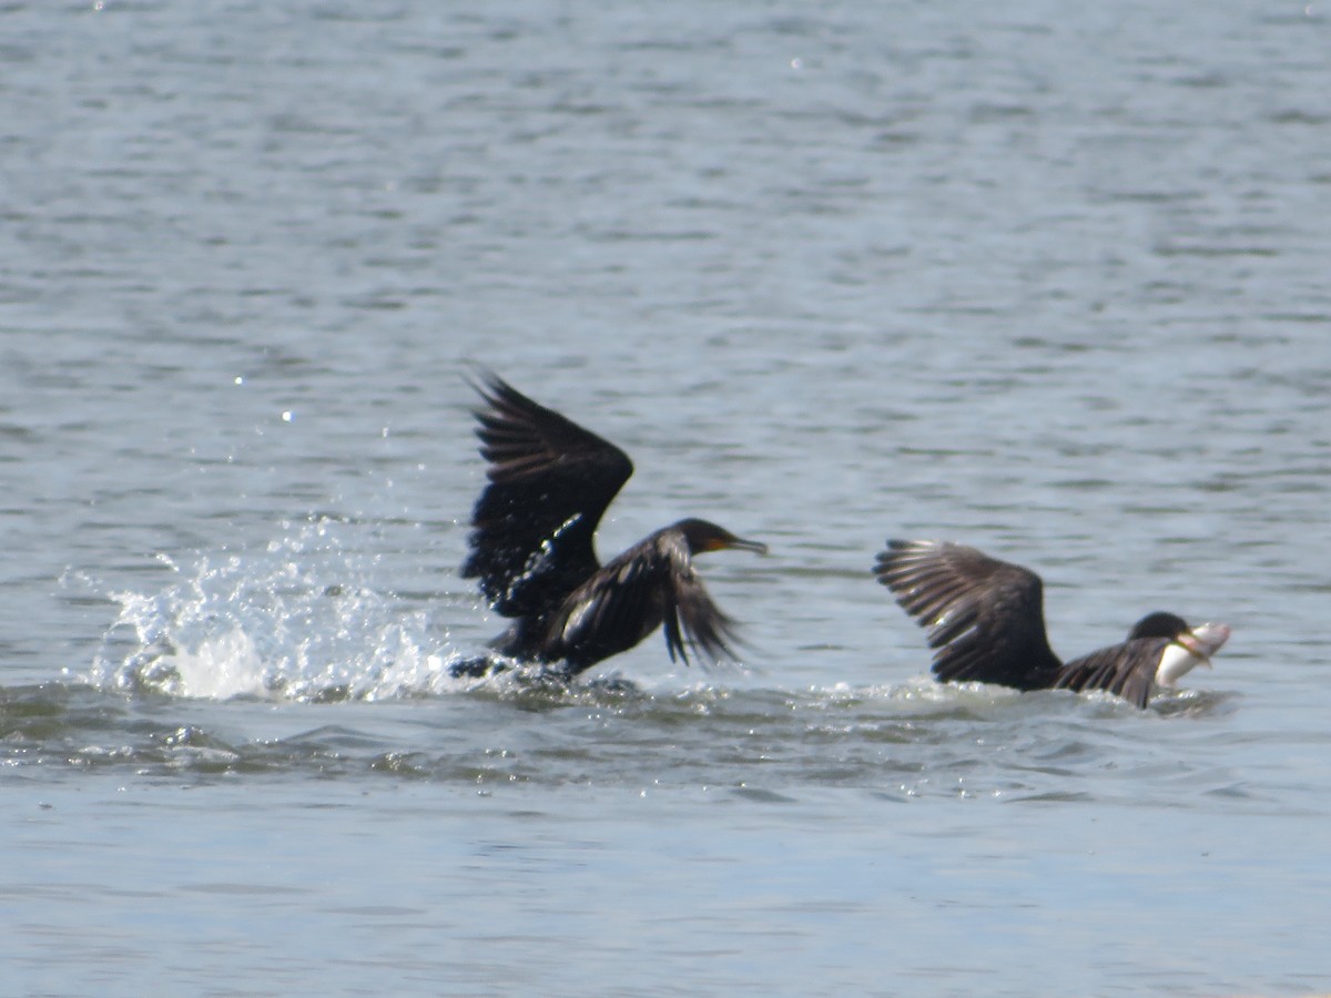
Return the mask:
[[1021,566],[934,540],[889,540],[873,567],[897,603],[929,629],[942,681],[1017,689],[1105,689],[1145,708],[1230,636],[1226,624],[1190,628],[1173,613],[1142,617],[1122,644],[1063,664],[1045,633],[1044,584]]

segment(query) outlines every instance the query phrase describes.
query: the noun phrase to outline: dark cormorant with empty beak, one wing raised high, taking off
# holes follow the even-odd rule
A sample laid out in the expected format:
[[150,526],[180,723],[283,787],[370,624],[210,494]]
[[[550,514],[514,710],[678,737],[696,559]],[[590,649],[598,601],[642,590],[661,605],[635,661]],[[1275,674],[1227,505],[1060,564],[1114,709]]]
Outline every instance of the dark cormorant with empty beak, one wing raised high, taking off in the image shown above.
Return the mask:
[[[733,621],[693,571],[703,551],[767,552],[715,523],[684,519],[602,566],[592,538],[634,464],[615,444],[546,409],[498,375],[476,385],[480,454],[490,482],[471,515],[462,575],[480,580],[494,609],[512,619],[491,647],[575,676],[627,651],[658,627],[671,661],[687,648],[731,656]],[[483,675],[487,660],[454,675]]]

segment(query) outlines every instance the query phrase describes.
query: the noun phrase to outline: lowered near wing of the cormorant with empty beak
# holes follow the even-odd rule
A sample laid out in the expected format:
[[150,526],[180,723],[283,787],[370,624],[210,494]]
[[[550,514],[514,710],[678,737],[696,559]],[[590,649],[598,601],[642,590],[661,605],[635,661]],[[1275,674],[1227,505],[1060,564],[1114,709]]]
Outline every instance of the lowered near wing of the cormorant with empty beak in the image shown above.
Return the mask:
[[570,595],[552,621],[543,657],[579,672],[632,648],[658,625],[671,661],[688,651],[733,657],[735,624],[707,593],[677,528],[656,531]]

